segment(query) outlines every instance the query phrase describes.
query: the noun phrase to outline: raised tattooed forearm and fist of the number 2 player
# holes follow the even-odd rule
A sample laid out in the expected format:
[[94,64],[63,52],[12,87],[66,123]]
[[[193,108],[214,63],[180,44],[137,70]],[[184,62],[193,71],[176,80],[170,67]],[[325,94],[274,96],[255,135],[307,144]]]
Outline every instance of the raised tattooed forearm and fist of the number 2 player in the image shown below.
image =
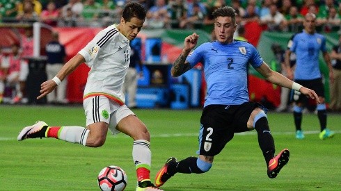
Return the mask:
[[170,74],[172,76],[180,76],[181,74],[184,74],[184,72],[187,72],[189,69],[191,69],[191,65],[186,62],[186,58],[191,50],[196,47],[198,38],[199,35],[193,33],[184,39],[184,49],[182,49],[180,56],[177,57],[172,68],[170,69]]

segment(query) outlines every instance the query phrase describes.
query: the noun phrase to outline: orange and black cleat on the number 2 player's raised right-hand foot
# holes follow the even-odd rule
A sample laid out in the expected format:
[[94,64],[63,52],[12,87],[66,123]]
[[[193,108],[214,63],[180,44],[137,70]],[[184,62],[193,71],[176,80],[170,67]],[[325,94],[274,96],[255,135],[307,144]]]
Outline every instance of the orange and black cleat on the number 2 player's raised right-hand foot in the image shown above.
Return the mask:
[[290,152],[288,149],[283,149],[283,151],[280,151],[277,156],[273,157],[269,161],[267,174],[269,178],[276,178],[278,173],[280,173],[280,169],[284,167],[284,165],[287,165],[287,162],[289,162]]

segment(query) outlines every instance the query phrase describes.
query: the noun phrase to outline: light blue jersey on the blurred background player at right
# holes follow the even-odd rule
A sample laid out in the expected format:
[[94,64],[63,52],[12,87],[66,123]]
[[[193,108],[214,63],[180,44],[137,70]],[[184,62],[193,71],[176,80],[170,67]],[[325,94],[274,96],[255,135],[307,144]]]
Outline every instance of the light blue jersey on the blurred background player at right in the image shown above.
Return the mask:
[[321,78],[319,51],[326,52],[326,39],[319,33],[296,33],[288,43],[290,51],[296,54],[295,80]]

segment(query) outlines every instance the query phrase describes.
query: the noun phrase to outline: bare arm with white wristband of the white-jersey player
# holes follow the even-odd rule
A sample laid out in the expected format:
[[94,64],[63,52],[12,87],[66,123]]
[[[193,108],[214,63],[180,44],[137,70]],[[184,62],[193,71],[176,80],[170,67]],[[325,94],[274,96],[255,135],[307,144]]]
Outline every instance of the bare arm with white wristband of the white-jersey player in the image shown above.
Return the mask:
[[68,63],[66,63],[61,70],[58,72],[56,77],[54,79],[50,79],[48,81],[43,82],[40,85],[40,96],[37,97],[37,99],[41,99],[42,97],[45,97],[45,95],[49,94],[54,90],[54,88],[57,87],[57,83],[59,81],[63,81],[63,79],[71,74],[71,72],[74,71],[81,63],[85,63],[85,59],[83,56],[77,53],[76,56],[71,58]]

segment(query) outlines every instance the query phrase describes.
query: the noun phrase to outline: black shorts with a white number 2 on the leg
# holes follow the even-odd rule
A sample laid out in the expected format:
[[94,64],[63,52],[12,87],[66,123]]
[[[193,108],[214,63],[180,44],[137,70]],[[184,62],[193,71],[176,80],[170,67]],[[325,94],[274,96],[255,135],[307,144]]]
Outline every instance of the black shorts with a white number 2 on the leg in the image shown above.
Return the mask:
[[206,106],[200,119],[199,154],[216,156],[235,133],[250,131],[247,122],[255,108],[264,108],[260,103],[246,102],[237,106]]

